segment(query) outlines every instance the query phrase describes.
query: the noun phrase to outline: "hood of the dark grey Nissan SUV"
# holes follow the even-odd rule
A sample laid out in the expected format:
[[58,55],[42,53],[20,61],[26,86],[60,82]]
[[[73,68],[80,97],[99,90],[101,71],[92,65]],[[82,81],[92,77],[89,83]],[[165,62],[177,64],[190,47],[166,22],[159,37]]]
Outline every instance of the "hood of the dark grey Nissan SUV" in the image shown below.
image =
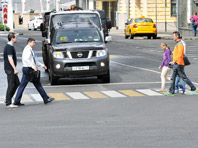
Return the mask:
[[104,49],[105,44],[104,43],[95,43],[95,42],[89,42],[89,43],[66,43],[66,44],[54,44],[52,45],[54,50],[62,50],[62,51],[74,51],[74,50],[99,50]]

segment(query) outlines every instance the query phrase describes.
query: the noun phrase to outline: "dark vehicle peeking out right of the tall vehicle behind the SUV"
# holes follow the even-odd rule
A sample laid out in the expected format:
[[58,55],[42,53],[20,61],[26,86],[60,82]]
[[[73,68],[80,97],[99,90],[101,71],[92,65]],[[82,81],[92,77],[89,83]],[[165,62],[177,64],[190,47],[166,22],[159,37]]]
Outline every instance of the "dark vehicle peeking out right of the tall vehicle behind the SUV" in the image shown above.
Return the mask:
[[103,33],[104,33],[104,39],[106,36],[109,36],[109,32],[111,29],[111,21],[107,20],[105,11],[104,10],[96,10],[100,14],[100,19],[102,22],[102,28],[103,28]]

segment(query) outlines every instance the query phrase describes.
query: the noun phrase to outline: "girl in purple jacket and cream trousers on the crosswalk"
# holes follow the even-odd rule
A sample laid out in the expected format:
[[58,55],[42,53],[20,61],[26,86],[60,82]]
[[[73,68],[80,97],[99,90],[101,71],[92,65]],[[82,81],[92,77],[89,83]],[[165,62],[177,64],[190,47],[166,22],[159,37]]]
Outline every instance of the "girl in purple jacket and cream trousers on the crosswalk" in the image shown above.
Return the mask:
[[166,43],[161,43],[161,48],[164,50],[163,53],[163,60],[161,65],[159,66],[159,69],[161,72],[161,89],[159,91],[164,92],[166,88],[166,80],[170,80],[168,78],[168,71],[170,68],[168,67],[169,62],[171,61],[171,50],[170,47]]

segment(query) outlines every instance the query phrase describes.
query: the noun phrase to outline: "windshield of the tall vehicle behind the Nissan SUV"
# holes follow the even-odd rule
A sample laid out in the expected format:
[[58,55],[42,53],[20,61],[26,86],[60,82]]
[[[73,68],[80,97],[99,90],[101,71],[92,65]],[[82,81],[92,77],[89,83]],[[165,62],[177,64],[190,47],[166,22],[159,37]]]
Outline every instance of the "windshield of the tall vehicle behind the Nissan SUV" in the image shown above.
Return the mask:
[[63,22],[64,24],[69,22],[92,22],[94,23],[99,29],[101,29],[100,25],[100,19],[98,17],[98,14],[92,14],[92,13],[73,13],[73,14],[60,14],[60,15],[54,15],[52,16],[52,25],[50,26],[51,29],[54,26],[54,24]]

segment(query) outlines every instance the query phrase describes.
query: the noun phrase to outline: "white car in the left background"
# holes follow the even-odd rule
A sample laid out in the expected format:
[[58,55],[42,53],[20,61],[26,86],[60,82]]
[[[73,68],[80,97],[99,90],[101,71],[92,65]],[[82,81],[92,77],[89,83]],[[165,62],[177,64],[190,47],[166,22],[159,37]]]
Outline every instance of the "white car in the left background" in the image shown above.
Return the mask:
[[37,30],[40,29],[40,25],[43,23],[42,16],[33,17],[28,23],[28,30]]

